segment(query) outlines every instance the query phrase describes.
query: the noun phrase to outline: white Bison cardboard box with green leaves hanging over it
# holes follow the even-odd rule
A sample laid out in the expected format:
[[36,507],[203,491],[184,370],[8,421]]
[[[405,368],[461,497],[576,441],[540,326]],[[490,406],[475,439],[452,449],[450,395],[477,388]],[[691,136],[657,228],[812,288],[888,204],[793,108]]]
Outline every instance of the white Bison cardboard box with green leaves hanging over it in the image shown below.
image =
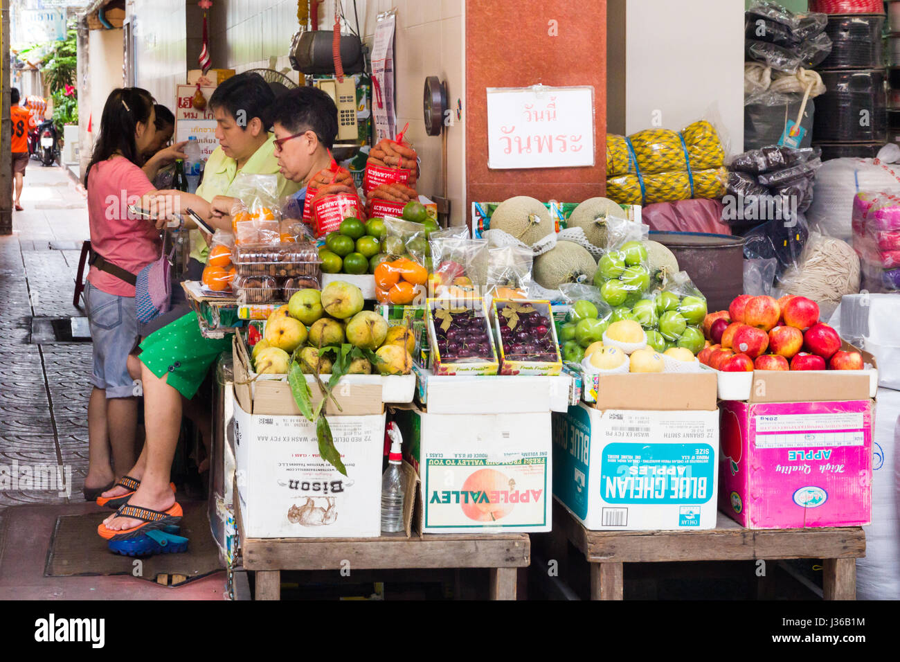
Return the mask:
[[384,414],[328,420],[347,476],[320,458],[316,426],[303,416],[235,405],[236,482],[247,537],[381,535]]

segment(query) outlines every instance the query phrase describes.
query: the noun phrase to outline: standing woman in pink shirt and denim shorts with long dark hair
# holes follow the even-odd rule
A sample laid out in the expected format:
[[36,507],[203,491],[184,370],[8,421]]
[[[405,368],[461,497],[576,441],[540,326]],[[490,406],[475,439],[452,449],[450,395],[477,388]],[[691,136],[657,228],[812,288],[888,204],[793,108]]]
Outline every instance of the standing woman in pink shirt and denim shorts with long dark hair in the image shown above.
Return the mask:
[[[157,226],[134,218],[128,205],[148,206],[142,201],[148,202],[156,192],[140,168],[141,153],[154,141],[154,113],[147,90],[113,90],[103,106],[100,133],[85,173],[95,254],[85,286],[94,342],[94,390],[87,407],[88,501],[109,489],[136,458],[138,401],[128,367],[139,340],[134,282],[142,268],[159,258],[162,245]],[[168,149],[175,159],[177,150]]]

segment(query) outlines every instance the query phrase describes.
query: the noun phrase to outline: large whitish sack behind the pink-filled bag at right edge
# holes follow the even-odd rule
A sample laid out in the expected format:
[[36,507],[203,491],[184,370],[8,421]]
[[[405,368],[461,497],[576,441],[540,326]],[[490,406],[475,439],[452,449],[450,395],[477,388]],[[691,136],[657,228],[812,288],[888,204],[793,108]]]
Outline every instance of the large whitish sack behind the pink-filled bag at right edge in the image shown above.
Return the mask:
[[851,241],[853,201],[860,191],[900,195],[900,147],[889,144],[878,159],[833,159],[815,174],[813,204],[806,218],[810,229],[836,239]]

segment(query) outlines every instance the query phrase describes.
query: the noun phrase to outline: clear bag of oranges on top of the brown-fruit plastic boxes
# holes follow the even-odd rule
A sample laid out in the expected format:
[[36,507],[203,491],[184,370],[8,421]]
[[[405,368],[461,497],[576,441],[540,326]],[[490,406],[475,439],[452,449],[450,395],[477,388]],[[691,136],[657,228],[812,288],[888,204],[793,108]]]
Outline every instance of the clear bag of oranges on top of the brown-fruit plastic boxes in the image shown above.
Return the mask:
[[231,208],[231,231],[236,245],[279,243],[282,217],[275,175],[241,173],[231,185],[238,202]]

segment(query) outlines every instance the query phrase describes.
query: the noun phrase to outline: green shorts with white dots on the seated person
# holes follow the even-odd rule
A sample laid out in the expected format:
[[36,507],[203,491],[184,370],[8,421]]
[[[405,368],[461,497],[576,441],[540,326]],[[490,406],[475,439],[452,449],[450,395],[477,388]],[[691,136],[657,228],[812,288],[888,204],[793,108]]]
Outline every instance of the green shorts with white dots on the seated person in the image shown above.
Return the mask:
[[192,312],[148,335],[140,349],[140,361],[150,372],[160,379],[168,375],[166,384],[190,400],[216,358],[231,349],[231,336],[203,338]]

